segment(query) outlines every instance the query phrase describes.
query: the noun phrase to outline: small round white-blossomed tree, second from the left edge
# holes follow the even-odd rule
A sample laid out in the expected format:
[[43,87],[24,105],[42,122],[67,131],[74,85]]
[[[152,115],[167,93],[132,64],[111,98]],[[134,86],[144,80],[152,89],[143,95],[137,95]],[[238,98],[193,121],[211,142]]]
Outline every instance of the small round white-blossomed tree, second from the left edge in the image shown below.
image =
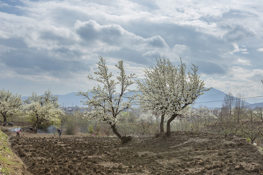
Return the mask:
[[38,131],[38,124],[43,122],[59,123],[59,116],[63,114],[59,108],[58,97],[54,96],[50,90],[45,91],[44,95],[32,93],[32,96],[25,100],[25,118],[35,126]]

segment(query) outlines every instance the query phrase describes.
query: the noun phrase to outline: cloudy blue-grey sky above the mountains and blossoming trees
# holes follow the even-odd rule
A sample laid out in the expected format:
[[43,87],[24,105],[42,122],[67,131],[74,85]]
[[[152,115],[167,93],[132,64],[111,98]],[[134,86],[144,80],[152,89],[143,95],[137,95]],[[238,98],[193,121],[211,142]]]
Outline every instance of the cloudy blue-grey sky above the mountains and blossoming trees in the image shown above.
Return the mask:
[[[103,56],[144,78],[159,56],[199,67],[207,88],[263,96],[262,0],[0,0],[0,88],[87,91]],[[133,87],[134,88],[134,87]],[[251,98],[249,103],[263,102]]]

